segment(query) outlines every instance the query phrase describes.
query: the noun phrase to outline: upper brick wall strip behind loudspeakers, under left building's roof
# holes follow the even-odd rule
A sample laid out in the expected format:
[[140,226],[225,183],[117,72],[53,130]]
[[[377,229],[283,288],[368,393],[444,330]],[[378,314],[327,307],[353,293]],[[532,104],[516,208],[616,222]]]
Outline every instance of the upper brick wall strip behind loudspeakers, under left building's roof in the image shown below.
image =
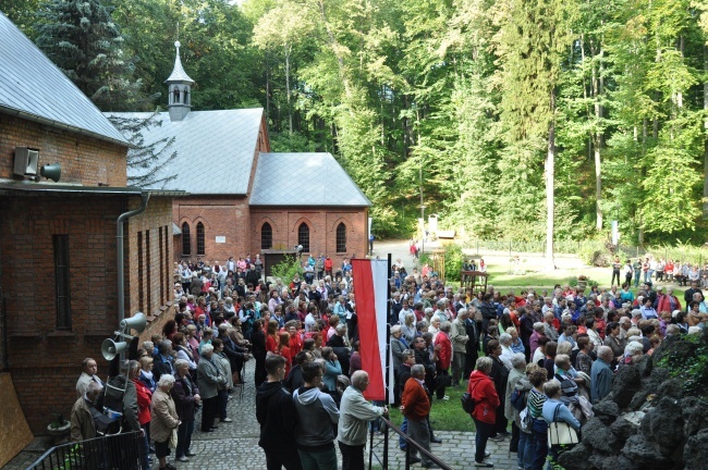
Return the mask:
[[0,177],[13,177],[15,147],[39,149],[40,166],[61,164],[60,183],[125,186],[125,147],[0,114]]

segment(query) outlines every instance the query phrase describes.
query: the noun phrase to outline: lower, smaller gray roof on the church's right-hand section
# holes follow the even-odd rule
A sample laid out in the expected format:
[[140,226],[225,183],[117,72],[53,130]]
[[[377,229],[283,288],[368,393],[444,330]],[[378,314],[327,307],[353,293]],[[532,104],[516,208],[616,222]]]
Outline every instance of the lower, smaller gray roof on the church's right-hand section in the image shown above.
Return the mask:
[[371,206],[331,153],[260,153],[249,203]]

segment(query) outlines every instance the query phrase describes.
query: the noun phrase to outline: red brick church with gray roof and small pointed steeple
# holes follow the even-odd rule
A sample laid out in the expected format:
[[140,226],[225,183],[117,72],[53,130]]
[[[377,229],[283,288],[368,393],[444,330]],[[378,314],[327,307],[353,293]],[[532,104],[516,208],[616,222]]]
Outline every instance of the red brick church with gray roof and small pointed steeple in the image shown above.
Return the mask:
[[[343,258],[365,256],[370,201],[330,153],[271,153],[263,109],[192,111],[192,85],[179,44],[168,111],[144,133],[172,139],[176,158],[158,178],[184,190],[173,201],[174,260],[221,263],[264,249]],[[117,113],[147,119],[150,113]]]

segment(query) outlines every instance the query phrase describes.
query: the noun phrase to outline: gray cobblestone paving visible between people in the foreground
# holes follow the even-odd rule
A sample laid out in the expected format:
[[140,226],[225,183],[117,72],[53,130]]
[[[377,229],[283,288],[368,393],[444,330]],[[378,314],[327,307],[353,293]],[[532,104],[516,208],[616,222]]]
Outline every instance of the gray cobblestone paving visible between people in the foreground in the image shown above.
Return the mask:
[[[194,432],[192,450],[197,454],[190,462],[174,462],[179,469],[184,470],[264,470],[266,457],[258,447],[259,426],[256,421],[255,387],[253,385],[253,361],[246,367],[246,385],[243,396],[236,392],[229,401],[229,417],[232,423],[220,423],[213,433],[198,431],[199,416],[197,416],[197,430]],[[473,432],[445,432],[436,433],[443,440],[442,444],[432,444],[432,453],[450,465],[455,470],[466,470],[474,466],[474,436]],[[405,454],[398,449],[398,435],[392,431],[389,434],[389,468],[405,468]],[[375,437],[376,455],[382,458],[382,436]],[[5,469],[24,470],[37,459],[44,448],[41,440],[35,440],[25,450],[13,459]],[[495,468],[503,470],[516,469],[516,454],[509,454],[505,449],[508,442],[489,442],[487,449],[492,454],[489,461],[495,462]],[[503,449],[503,450],[502,450]],[[338,450],[339,454],[339,450]],[[367,449],[368,462],[368,449]],[[380,468],[374,459],[374,468]],[[414,468],[420,468],[419,465]],[[157,463],[152,466],[157,469]]]

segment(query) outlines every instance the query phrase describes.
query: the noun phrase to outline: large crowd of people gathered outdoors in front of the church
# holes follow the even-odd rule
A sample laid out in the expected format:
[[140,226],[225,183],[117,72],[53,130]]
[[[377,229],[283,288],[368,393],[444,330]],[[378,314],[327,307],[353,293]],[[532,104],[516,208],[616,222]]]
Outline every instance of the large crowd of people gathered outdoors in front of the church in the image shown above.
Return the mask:
[[[152,450],[160,469],[174,469],[194,456],[198,409],[199,432],[232,422],[230,394],[245,382],[244,363],[254,360],[268,469],[337,469],[335,445],[344,469],[363,468],[367,430],[381,429],[378,418],[388,408],[363,396],[369,378],[358,352],[351,263],[334,268],[330,260],[320,271],[314,259],[306,279],[269,283],[257,262],[186,264],[194,269],[188,276],[178,265],[174,319],[150,342],[132,344],[131,360],[109,374],[123,381],[105,384],[96,361],[84,361],[72,438],[97,435],[94,410],[106,405],[99,401],[108,388],[122,386],[123,430],[142,432],[145,468]],[[475,465],[483,468],[493,467],[487,441],[509,440],[520,469],[540,470],[549,453],[557,456],[546,444],[548,422],[579,430],[593,404],[609,394],[618,368],[650,355],[666,335],[700,331],[708,319],[697,281],[683,309],[671,286],[664,293],[650,281],[636,296],[627,285],[591,287],[587,296],[560,285],[550,293],[502,294],[489,286],[473,294],[445,285],[428,267],[407,273],[400,260],[391,279],[390,393],[404,417],[401,429],[429,453],[441,442],[430,425],[431,407],[449,399],[449,387],[465,387],[477,404]],[[407,441],[399,445],[405,449]],[[411,453],[413,462],[435,468],[428,454],[418,456],[413,446]]]

